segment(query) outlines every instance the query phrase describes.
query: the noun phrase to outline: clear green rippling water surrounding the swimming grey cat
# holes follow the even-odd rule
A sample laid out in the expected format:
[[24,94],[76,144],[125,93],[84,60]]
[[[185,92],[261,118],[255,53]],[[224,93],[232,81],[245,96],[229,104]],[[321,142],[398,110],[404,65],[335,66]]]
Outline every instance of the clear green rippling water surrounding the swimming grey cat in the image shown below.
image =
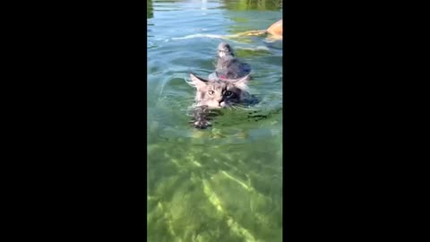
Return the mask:
[[188,73],[207,77],[222,36],[263,30],[280,1],[148,1],[148,240],[281,241],[282,42],[224,39],[261,102],[196,130]]

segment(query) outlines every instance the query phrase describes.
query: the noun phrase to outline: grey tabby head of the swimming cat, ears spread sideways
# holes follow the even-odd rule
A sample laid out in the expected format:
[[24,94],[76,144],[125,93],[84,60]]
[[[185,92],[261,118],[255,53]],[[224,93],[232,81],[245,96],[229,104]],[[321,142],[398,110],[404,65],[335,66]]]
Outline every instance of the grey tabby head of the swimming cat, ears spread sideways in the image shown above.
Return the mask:
[[204,80],[190,73],[190,84],[195,87],[195,100],[199,106],[225,108],[240,103],[248,95],[246,83],[249,75],[235,80]]

